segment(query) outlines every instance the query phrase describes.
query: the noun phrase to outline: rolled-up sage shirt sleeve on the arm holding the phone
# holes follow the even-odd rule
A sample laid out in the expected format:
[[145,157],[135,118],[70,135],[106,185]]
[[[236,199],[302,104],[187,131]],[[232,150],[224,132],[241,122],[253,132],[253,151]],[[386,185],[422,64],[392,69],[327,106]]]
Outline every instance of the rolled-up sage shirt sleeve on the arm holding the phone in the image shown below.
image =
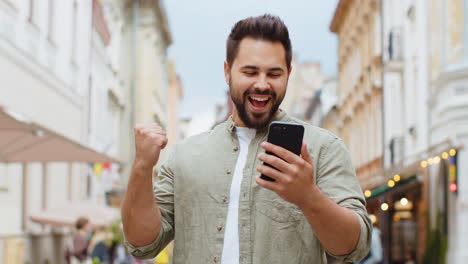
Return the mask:
[[[366,202],[356,177],[351,155],[344,142],[335,138],[318,157],[317,186],[332,201],[352,210],[359,219],[360,234],[356,248],[347,255],[336,256],[343,262],[355,262],[369,252],[372,225],[367,215]],[[339,230],[338,230],[339,232]]]

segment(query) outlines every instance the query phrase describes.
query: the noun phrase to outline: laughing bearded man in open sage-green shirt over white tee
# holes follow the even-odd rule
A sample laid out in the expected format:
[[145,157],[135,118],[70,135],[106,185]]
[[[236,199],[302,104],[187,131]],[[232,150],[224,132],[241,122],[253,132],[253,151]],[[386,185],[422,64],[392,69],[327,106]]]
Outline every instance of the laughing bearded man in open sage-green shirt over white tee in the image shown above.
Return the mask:
[[[279,109],[291,57],[278,17],[236,23],[224,63],[232,116],[176,145],[154,193],[152,170],[166,134],[156,124],[135,127],[136,157],[122,205],[134,256],[152,258],[172,239],[174,264],[318,264],[326,263],[325,250],[346,262],[367,254],[370,220],[344,143]],[[265,142],[274,120],[305,126],[301,156]]]

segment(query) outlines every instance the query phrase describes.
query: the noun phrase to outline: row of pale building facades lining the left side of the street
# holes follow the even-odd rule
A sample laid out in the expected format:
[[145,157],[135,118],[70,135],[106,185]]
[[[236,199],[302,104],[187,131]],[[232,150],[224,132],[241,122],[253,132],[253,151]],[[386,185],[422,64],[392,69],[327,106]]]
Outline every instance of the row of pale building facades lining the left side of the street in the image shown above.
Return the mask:
[[[72,229],[33,216],[77,201],[108,204],[106,194],[123,192],[129,176],[134,124],[169,129],[177,116],[167,105],[182,90],[173,68],[169,87],[164,8],[161,1],[0,0],[0,15],[0,205],[8,216],[0,219],[0,263],[63,263]],[[62,147],[27,156],[49,145],[4,125]],[[64,157],[53,155],[65,147]]]

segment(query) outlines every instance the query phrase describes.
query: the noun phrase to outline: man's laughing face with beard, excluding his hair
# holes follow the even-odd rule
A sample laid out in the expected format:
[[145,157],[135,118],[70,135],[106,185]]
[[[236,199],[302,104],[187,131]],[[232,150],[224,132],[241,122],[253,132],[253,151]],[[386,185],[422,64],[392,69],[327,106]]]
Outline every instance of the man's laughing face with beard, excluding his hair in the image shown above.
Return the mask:
[[290,70],[286,52],[280,42],[245,38],[224,74],[235,109],[234,121],[239,126],[267,126],[286,93]]

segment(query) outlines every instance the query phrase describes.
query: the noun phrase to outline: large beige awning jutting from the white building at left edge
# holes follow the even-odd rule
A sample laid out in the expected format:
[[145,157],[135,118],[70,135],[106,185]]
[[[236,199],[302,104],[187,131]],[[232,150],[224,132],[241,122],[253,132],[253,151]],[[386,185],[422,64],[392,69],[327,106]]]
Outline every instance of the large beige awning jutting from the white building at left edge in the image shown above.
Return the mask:
[[119,163],[1,106],[0,162]]

